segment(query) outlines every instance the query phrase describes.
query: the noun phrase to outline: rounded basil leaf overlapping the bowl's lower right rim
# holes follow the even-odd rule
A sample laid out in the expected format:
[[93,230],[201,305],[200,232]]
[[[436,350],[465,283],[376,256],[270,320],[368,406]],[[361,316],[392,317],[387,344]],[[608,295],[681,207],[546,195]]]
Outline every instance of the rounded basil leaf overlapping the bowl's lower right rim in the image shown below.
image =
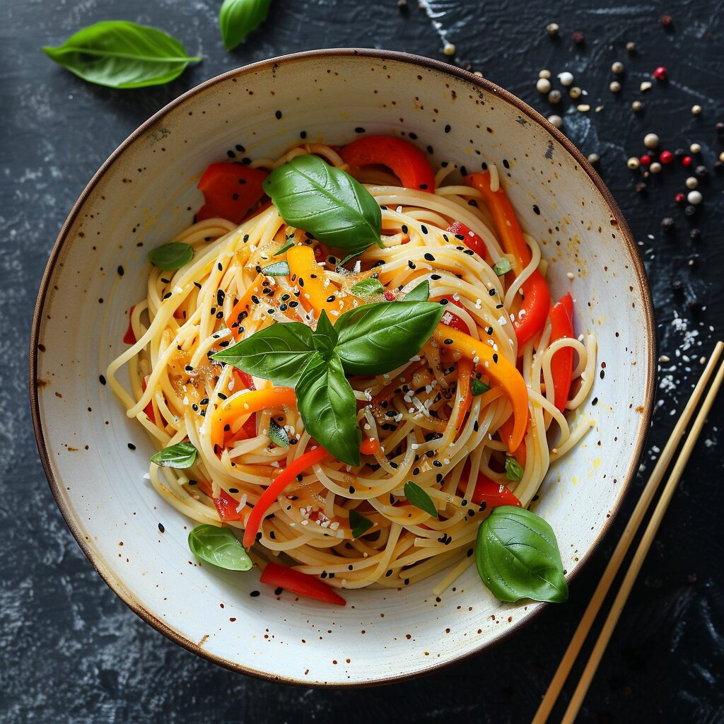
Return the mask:
[[475,562],[481,580],[500,601],[568,598],[553,529],[530,510],[495,508],[478,529]]

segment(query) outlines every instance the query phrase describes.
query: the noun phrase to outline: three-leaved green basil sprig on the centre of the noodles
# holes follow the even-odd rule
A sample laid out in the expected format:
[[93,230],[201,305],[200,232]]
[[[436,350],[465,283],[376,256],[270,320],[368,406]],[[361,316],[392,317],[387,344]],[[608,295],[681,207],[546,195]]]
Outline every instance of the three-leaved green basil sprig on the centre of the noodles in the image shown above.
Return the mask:
[[294,387],[309,434],[337,460],[358,466],[362,433],[347,375],[400,367],[429,340],[443,312],[434,302],[373,302],[332,325],[323,311],[314,332],[301,322],[272,324],[212,359]]

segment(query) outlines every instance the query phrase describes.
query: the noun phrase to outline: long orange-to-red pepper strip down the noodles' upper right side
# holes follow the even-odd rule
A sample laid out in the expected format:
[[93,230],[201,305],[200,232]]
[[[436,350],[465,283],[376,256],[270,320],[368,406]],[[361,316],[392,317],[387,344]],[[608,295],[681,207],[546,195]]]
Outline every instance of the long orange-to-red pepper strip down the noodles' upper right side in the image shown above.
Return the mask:
[[[513,204],[502,187],[490,190],[490,172],[470,174],[466,177],[468,185],[479,190],[493,217],[500,242],[505,252],[513,255],[515,274],[531,263],[531,250],[523,237],[521,224],[515,216]],[[518,337],[518,348],[532,340],[543,329],[550,308],[550,290],[543,275],[535,269],[523,284],[523,303],[515,315],[513,327]]]

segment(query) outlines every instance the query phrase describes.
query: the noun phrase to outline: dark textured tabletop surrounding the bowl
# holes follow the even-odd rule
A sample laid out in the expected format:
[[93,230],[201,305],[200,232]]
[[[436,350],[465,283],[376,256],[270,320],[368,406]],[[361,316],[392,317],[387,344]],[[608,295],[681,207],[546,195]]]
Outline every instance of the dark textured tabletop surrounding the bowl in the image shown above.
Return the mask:
[[[602,9],[593,0],[557,3],[397,0],[274,0],[264,28],[225,53],[217,0],[4,0],[0,9],[0,721],[4,723],[293,722],[315,720],[530,720],[573,628],[623,529],[643,479],[634,484],[604,544],[576,580],[571,599],[551,606],[497,648],[429,678],[367,691],[293,689],[217,668],[148,628],[106,588],[56,509],[30,424],[27,347],[35,295],[54,238],[109,153],[184,90],[219,72],[293,51],[374,46],[454,61],[544,112],[538,71],[571,70],[588,90],[588,114],[565,98],[555,111],[600,169],[628,217],[652,281],[657,312],[660,390],[643,472],[650,471],[717,337],[724,336],[724,175],[714,161],[724,143],[724,12],[720,1],[656,0]],[[555,7],[553,7],[555,6]],[[663,12],[673,16],[665,30]],[[203,56],[174,83],[114,91],[87,85],[40,51],[84,25],[126,19],[167,30]],[[560,24],[560,38],[545,32]],[[571,33],[582,30],[582,48]],[[624,46],[634,41],[636,56]],[[610,65],[626,74],[618,96]],[[641,93],[657,65],[668,83]],[[644,111],[634,114],[631,101]],[[580,102],[580,101],[579,101]],[[700,104],[703,113],[691,114]],[[597,106],[604,106],[596,112]],[[686,177],[680,165],[634,190],[640,174],[626,159],[645,132],[665,148],[702,145],[710,179],[689,219],[673,201]],[[675,230],[660,227],[663,216]],[[691,240],[689,230],[701,230]],[[690,266],[689,262],[693,260]],[[683,288],[677,295],[673,281]],[[641,578],[586,699],[586,722],[724,721],[722,468],[723,405],[712,415],[675,494]],[[558,710],[559,713],[562,711]]]

